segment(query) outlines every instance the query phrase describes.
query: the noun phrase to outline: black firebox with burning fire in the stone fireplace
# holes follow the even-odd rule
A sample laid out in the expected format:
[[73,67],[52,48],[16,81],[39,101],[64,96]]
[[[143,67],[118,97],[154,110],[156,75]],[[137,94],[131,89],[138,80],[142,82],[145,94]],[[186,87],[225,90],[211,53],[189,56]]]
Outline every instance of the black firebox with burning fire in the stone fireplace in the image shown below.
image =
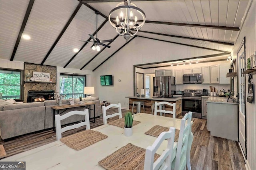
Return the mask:
[[54,100],[54,90],[28,91],[29,102],[44,102],[45,100]]

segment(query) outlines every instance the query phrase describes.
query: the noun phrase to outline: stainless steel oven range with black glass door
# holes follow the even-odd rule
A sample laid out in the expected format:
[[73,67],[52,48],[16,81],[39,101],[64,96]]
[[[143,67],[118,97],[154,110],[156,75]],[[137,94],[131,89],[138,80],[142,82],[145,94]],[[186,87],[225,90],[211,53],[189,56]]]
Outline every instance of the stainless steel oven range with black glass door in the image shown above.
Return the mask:
[[192,112],[192,117],[202,118],[201,96],[182,96],[182,116],[188,111]]

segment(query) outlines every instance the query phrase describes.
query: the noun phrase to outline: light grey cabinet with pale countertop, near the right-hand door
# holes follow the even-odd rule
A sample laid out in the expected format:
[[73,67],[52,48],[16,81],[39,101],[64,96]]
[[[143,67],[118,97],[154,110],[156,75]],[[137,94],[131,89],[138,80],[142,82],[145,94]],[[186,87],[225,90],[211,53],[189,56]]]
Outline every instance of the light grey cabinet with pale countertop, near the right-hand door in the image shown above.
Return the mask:
[[232,99],[210,96],[207,100],[207,130],[212,136],[238,140],[238,104]]

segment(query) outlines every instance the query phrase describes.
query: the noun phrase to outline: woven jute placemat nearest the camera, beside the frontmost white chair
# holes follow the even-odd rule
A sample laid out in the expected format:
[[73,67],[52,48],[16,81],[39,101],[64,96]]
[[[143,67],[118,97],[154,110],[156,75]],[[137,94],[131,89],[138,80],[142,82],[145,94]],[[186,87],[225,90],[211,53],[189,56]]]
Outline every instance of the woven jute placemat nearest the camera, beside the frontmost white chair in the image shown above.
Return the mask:
[[[102,159],[99,164],[106,170],[143,170],[145,153],[146,149],[128,143]],[[159,154],[155,154],[154,161],[159,157]]]

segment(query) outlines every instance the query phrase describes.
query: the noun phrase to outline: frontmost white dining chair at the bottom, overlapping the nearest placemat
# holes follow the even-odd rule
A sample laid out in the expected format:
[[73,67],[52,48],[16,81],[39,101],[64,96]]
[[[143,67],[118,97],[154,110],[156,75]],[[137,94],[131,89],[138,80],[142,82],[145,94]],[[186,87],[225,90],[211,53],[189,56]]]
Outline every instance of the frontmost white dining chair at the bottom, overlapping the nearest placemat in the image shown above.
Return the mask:
[[[169,131],[162,132],[152,146],[146,148],[144,170],[170,170],[171,169],[171,158],[172,149],[174,145],[175,128],[170,127]],[[154,155],[156,150],[160,147],[162,142],[168,139],[167,148],[161,154],[161,156],[154,162]]]

